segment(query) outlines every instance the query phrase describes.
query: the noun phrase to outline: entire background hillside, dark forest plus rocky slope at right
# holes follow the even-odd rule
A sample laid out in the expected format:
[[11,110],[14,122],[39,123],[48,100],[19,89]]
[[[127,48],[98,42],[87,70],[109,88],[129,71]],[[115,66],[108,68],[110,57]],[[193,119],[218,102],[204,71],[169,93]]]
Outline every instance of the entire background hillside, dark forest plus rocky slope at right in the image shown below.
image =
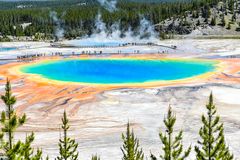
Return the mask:
[[178,35],[195,37],[240,33],[239,0],[100,2],[1,1],[0,40],[18,39],[16,37],[49,40],[59,37],[59,31],[62,32],[61,38],[67,39],[92,35],[100,32],[97,26],[99,17],[104,24],[104,32],[111,34],[119,30],[120,36],[125,36],[129,30],[138,35],[149,29],[163,39]]

